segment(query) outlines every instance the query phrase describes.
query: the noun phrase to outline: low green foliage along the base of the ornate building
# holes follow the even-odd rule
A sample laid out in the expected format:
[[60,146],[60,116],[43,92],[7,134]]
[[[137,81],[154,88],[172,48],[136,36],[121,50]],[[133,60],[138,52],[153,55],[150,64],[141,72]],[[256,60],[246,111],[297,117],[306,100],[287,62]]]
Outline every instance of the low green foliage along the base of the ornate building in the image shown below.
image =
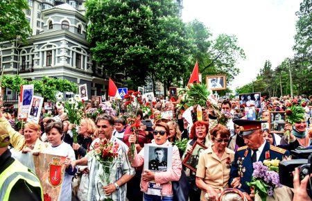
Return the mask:
[[7,87],[17,93],[21,91],[21,85],[34,85],[35,94],[40,94],[40,96],[48,100],[55,100],[57,91],[78,92],[76,83],[70,82],[69,80],[44,77],[42,80],[28,81],[18,75],[4,75],[2,78],[2,87]]

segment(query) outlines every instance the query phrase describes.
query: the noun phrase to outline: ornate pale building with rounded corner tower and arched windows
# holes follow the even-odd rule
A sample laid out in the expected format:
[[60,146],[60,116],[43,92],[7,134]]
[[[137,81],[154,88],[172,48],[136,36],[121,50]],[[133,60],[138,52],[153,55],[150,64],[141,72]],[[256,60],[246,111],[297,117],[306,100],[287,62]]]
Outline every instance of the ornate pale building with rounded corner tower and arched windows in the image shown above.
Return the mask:
[[[78,85],[87,84],[89,97],[104,95],[103,69],[92,64],[86,40],[83,2],[67,2],[71,5],[54,0],[28,0],[30,15],[28,10],[25,12],[26,17],[30,16],[33,36],[27,44],[0,43],[4,73],[31,80],[44,76],[67,79]],[[6,98],[14,100],[16,94],[7,89]]]

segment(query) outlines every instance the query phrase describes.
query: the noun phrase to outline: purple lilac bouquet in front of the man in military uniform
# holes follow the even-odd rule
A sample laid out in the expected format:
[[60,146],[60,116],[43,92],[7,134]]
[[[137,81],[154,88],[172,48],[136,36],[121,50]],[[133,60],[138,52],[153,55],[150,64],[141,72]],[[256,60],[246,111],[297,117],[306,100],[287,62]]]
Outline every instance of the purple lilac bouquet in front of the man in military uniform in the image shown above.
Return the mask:
[[254,172],[252,173],[252,181],[248,182],[248,186],[254,187],[254,192],[258,193],[261,200],[265,201],[266,196],[272,196],[276,187],[280,187],[279,174],[272,171],[272,168],[264,165],[261,161],[252,164]]

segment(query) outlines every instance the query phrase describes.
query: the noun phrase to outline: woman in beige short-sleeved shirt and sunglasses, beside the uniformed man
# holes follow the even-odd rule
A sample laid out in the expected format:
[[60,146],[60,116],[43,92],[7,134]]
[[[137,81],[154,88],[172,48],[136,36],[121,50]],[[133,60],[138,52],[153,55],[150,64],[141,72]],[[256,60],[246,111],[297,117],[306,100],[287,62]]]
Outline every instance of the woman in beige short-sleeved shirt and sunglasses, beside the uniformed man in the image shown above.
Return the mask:
[[218,124],[210,134],[214,144],[200,155],[196,172],[196,185],[202,189],[200,200],[218,200],[218,194],[227,188],[230,166],[234,161],[234,151],[227,148],[229,130]]

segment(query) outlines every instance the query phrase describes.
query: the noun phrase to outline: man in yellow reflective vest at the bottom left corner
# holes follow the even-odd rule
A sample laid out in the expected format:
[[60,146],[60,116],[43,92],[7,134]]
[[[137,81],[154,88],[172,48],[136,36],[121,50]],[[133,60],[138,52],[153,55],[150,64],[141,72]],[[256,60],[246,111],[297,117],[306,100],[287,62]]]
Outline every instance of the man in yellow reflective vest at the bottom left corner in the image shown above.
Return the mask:
[[43,200],[37,176],[11,157],[8,150],[10,137],[2,124],[0,123],[0,200]]

